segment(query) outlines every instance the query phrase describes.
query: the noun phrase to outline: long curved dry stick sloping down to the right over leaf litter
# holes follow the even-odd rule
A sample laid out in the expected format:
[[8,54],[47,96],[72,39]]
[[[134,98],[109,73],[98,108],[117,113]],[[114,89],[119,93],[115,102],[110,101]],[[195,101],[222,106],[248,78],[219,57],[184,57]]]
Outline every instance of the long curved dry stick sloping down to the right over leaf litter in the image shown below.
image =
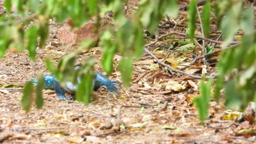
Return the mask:
[[[165,67],[171,69],[172,71],[174,71],[174,72],[176,72],[176,73],[181,73],[181,74],[184,74],[184,75],[188,75],[188,76],[194,77],[194,78],[196,78],[196,79],[202,79],[202,76],[191,75],[191,74],[185,73],[185,72],[182,71],[182,70],[174,69],[174,68],[172,68],[170,65],[161,62],[161,61],[160,61],[152,52],[150,52],[147,48],[144,48],[144,50],[145,50],[147,53],[149,53],[150,56],[152,56],[153,58],[155,58],[156,62],[158,62],[158,63],[161,64],[161,65],[164,65]],[[205,78],[205,79],[214,79],[214,78],[216,78],[216,76],[205,76],[204,78]]]

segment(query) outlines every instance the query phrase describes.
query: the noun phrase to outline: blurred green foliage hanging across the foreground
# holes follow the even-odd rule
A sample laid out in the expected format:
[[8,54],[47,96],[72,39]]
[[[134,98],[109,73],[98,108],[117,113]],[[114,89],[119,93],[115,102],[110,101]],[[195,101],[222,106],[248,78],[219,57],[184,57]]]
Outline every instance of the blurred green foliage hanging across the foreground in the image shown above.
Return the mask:
[[[57,22],[63,22],[68,17],[72,20],[75,27],[82,26],[84,22],[90,20],[91,17],[100,19],[108,11],[113,11],[113,17],[116,28],[109,28],[104,32],[98,32],[97,37],[100,39],[100,46],[103,52],[102,67],[108,75],[113,71],[113,57],[119,52],[122,56],[119,62],[119,71],[122,74],[124,86],[129,87],[132,78],[132,63],[140,58],[143,52],[144,36],[142,29],[147,28],[150,32],[154,32],[159,22],[164,16],[176,18],[178,15],[178,1],[160,1],[160,0],[144,0],[140,2],[134,20],[127,19],[123,14],[124,2],[113,1],[54,1],[48,0],[39,4],[39,1],[5,1],[7,15],[0,17],[0,56],[3,57],[7,49],[24,51],[26,48],[33,61],[36,60],[36,47],[42,47],[48,36],[49,19],[55,17]],[[190,2],[188,7],[188,37],[194,41],[197,16],[197,1]],[[19,15],[11,14],[11,5],[16,7]],[[99,6],[100,5],[100,6]],[[210,11],[214,11],[215,17]],[[28,15],[29,14],[29,15]],[[24,29],[32,20],[37,22]],[[219,100],[222,95],[221,90],[224,88],[226,106],[232,108],[245,107],[249,101],[256,101],[256,44],[254,29],[254,11],[252,8],[243,9],[243,1],[216,1],[216,3],[206,2],[203,6],[201,16],[202,32],[204,37],[210,34],[210,19],[213,17],[218,21],[218,25],[222,30],[223,43],[222,55],[218,63],[218,77],[212,85],[214,88],[214,98]],[[234,34],[238,31],[243,33],[241,43],[230,46],[230,42],[234,39]],[[75,52],[70,53],[56,65],[50,58],[46,58],[45,62],[48,70],[54,74],[61,82],[75,82],[74,62],[83,49],[90,49],[96,43],[95,39],[85,40]],[[207,45],[205,45],[207,47]],[[211,52],[205,50],[205,53]],[[86,87],[85,83],[92,83],[90,79],[93,71],[94,59],[88,59],[80,75],[84,75],[79,85],[77,100],[88,104],[90,101],[91,88]],[[31,83],[24,88],[24,97],[22,98],[22,106],[25,110],[29,110],[32,103]],[[41,88],[37,88],[36,105],[41,107],[42,93],[39,94]],[[88,89],[88,91],[81,91]],[[201,85],[201,99],[195,100],[196,106],[200,109],[200,118],[203,120],[207,117],[207,103],[211,95],[210,84]],[[28,96],[30,95],[30,96]],[[207,103],[206,103],[207,102]]]

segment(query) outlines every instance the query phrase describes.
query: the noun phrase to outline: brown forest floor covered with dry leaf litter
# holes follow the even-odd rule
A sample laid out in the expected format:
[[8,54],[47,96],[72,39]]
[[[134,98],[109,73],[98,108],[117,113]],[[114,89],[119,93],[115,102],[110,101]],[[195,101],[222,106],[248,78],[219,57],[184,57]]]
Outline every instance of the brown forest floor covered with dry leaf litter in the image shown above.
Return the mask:
[[[177,22],[177,21],[176,21]],[[182,21],[179,21],[182,25]],[[72,51],[70,47],[59,44],[57,31],[63,24],[51,23],[50,35],[46,45],[37,50],[36,62],[32,62],[26,51],[15,53],[7,51],[0,63],[0,86],[4,83],[24,83],[36,74],[49,73],[44,57],[51,56],[54,62]],[[177,28],[183,31],[183,28]],[[168,33],[168,28],[161,28]],[[178,39],[183,41],[187,38]],[[155,39],[147,39],[150,44]],[[169,40],[169,41],[168,41]],[[176,40],[176,39],[175,39]],[[166,50],[162,44],[170,39],[158,41],[148,47],[158,58],[167,62],[188,64],[193,61],[190,53]],[[172,42],[171,42],[172,43]],[[160,47],[162,46],[162,47]],[[170,45],[169,45],[170,46]],[[188,45],[187,45],[188,46]],[[167,47],[168,48],[168,47]],[[181,47],[179,47],[181,48]],[[193,52],[200,55],[196,45]],[[95,71],[101,69],[102,53],[93,51],[77,56],[77,63],[88,57],[97,57]],[[115,58],[114,65],[118,63]],[[208,73],[216,70],[218,55],[208,65]],[[185,69],[187,73],[201,75],[201,61]],[[198,97],[200,80],[187,75],[164,70],[148,53],[134,64],[132,86],[120,89],[121,95],[109,95],[104,89],[94,92],[90,105],[78,101],[57,100],[53,91],[44,91],[44,106],[37,110],[34,106],[29,112],[21,108],[21,89],[0,89],[0,141],[3,143],[253,143],[255,133],[240,133],[243,129],[255,129],[255,125],[232,121],[237,111],[225,110],[223,103],[211,101],[210,114],[205,123],[199,121],[193,98]],[[121,81],[119,71],[111,80]],[[174,89],[176,89],[174,91]],[[120,107],[122,106],[122,107]],[[120,116],[120,119],[118,118]],[[231,120],[227,120],[228,117]],[[124,124],[120,125],[120,120]]]

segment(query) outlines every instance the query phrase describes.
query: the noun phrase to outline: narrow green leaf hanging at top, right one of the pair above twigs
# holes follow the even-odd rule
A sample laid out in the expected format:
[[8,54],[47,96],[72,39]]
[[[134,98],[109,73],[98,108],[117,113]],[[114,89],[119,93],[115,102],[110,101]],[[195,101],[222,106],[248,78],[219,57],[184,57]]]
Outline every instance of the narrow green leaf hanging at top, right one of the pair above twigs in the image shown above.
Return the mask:
[[202,9],[202,26],[203,26],[203,33],[205,34],[205,37],[208,37],[210,35],[210,22],[211,22],[211,3],[207,2]]

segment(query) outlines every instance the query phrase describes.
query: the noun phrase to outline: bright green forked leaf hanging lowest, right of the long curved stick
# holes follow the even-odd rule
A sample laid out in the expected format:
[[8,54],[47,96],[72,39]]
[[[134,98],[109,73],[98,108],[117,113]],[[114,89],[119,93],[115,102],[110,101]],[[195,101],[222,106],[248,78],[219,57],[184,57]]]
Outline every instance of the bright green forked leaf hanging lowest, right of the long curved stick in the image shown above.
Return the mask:
[[203,122],[205,118],[207,118],[208,116],[208,105],[211,98],[211,87],[212,87],[212,80],[208,81],[207,83],[201,80],[201,83],[200,83],[201,97],[194,99],[194,103],[199,111],[199,117],[201,122]]

